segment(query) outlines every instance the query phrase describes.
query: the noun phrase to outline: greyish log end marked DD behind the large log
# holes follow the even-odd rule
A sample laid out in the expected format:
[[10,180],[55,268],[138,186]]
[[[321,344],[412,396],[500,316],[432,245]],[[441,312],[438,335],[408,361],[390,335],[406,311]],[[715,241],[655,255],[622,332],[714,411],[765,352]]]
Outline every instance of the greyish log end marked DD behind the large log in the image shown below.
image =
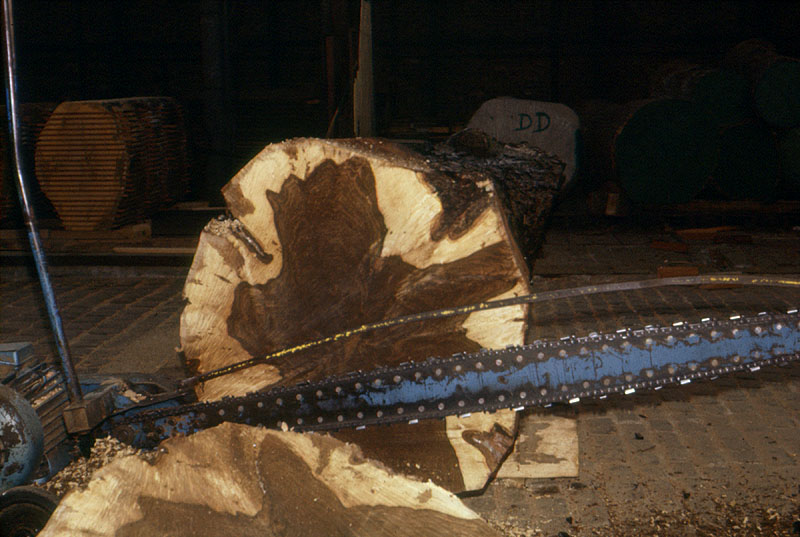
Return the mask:
[[513,97],[486,101],[467,125],[500,142],[524,142],[556,155],[565,164],[564,188],[578,169],[580,126],[578,114],[564,104]]

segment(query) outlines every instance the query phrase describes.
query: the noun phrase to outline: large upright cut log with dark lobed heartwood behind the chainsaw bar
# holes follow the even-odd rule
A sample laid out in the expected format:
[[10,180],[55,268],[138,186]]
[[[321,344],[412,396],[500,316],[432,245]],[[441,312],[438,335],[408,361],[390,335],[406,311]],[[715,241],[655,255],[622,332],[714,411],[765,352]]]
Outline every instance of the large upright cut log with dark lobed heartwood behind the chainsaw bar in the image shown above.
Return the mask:
[[[523,234],[523,221],[507,214],[495,180],[504,172],[509,184],[550,177],[552,201],[561,167],[487,151],[422,158],[368,139],[266,147],[223,189],[231,218],[212,221],[200,237],[181,317],[187,364],[207,372],[365,323],[528,292],[512,236]],[[524,191],[519,198],[537,199]],[[523,343],[526,312],[364,333],[212,379],[198,396]],[[515,427],[512,413],[499,412],[341,434],[394,469],[462,491],[484,486]]]

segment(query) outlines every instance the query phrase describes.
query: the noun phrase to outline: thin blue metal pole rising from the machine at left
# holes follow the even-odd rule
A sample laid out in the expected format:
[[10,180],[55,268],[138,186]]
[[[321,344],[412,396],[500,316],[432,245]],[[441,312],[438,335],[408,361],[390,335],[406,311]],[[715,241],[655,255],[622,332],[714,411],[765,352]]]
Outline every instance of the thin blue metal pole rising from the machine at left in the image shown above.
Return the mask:
[[6,52],[6,108],[8,110],[9,130],[11,134],[12,148],[14,152],[14,168],[16,172],[17,190],[19,191],[20,205],[25,216],[25,225],[28,228],[28,241],[31,243],[33,259],[36,263],[36,271],[39,273],[39,282],[42,285],[45,303],[47,304],[47,314],[50,317],[50,325],[53,329],[53,336],[56,340],[58,355],[61,358],[61,366],[64,370],[64,377],[67,381],[69,399],[72,403],[79,403],[83,400],[78,377],[72,365],[72,358],[69,354],[67,338],[64,336],[64,327],[61,324],[61,315],[58,313],[56,297],[53,287],[50,284],[50,276],[47,274],[47,262],[42,248],[42,239],[39,236],[39,226],[36,223],[36,215],[30,203],[30,194],[22,173],[22,152],[20,149],[20,123],[19,110],[17,108],[17,59],[14,52],[14,16],[12,0],[3,0],[3,34],[5,38]]

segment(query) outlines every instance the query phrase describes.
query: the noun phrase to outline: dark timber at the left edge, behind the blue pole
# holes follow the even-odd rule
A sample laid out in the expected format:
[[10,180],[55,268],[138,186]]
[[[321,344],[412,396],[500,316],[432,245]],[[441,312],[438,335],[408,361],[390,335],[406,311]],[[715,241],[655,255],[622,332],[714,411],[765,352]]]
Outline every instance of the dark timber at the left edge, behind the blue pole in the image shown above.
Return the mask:
[[[42,194],[35,175],[31,173],[33,169],[34,151],[36,149],[36,139],[44,128],[47,119],[56,108],[55,103],[22,103],[19,106],[20,120],[20,153],[22,158],[23,172],[34,211],[40,218],[52,216],[53,208],[47,198]],[[2,117],[7,117],[5,107],[0,107]],[[0,177],[2,177],[2,188],[0,188],[0,222],[18,225],[20,221],[19,203],[17,202],[17,187],[14,178],[14,160],[9,143],[8,128],[0,129]]]

